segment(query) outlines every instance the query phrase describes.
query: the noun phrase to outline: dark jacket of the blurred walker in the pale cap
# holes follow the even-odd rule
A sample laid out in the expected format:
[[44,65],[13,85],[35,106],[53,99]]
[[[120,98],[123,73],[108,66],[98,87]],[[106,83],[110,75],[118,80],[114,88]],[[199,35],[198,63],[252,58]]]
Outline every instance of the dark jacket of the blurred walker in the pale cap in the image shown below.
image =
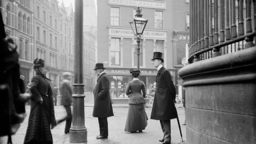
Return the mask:
[[61,105],[70,106],[72,103],[72,89],[67,81],[63,81],[59,92],[61,93]]

